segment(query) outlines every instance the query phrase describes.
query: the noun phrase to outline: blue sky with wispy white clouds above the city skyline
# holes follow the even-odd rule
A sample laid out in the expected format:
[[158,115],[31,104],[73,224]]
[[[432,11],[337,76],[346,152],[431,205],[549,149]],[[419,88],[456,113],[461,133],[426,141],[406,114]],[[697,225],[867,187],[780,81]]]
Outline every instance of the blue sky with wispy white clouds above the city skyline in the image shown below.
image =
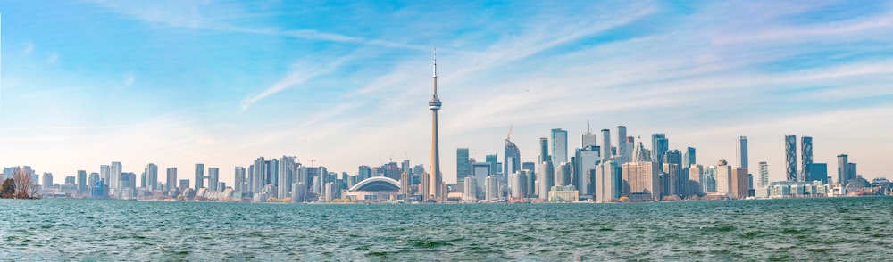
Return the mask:
[[513,125],[534,160],[587,120],[705,165],[735,164],[747,135],[772,180],[783,135],[811,135],[830,175],[847,153],[890,176],[891,3],[776,2],[3,1],[0,165],[182,179],[201,162],[228,184],[262,155],[427,166],[437,47],[447,181],[457,147],[501,155]]

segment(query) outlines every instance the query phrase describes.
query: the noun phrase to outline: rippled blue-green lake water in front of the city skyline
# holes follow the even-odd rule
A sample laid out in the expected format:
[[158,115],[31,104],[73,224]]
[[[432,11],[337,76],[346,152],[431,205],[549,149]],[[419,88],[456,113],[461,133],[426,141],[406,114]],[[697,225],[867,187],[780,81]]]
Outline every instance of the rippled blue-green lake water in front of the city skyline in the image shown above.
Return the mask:
[[281,205],[0,200],[2,260],[889,260],[893,198]]

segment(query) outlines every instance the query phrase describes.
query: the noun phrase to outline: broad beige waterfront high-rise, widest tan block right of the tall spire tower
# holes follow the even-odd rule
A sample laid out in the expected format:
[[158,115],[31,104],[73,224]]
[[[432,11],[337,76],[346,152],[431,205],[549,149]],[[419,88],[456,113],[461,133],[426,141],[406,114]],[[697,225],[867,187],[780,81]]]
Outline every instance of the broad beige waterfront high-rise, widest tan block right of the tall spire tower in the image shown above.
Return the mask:
[[623,193],[630,201],[660,201],[661,168],[656,162],[629,162],[622,166]]

